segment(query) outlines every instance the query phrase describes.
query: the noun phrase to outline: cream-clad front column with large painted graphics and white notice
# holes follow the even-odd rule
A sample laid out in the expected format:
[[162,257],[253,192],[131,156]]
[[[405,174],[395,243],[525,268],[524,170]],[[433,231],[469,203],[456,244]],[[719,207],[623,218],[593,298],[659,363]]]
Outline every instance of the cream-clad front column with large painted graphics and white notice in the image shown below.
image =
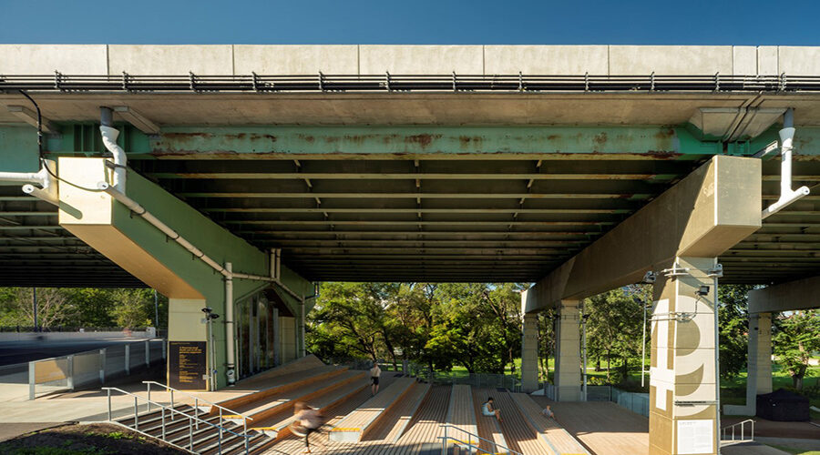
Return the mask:
[[[675,258],[659,273],[651,319],[650,454],[716,454],[716,258]],[[670,270],[674,268],[674,270]],[[708,290],[707,288],[708,287]]]

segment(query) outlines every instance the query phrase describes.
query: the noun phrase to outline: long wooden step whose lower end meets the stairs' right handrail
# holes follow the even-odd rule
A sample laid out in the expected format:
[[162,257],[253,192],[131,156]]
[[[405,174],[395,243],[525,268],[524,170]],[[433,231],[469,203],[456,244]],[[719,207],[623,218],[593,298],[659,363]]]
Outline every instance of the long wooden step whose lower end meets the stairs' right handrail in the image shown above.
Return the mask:
[[[251,417],[252,420],[248,422],[249,426],[255,426],[254,423],[257,421],[265,420],[283,410],[290,410],[296,401],[307,401],[333,389],[338,389],[350,382],[361,380],[362,371],[344,370],[340,374],[333,375],[333,377],[327,378],[326,380],[313,380],[306,385],[300,384],[300,387],[287,389],[282,393],[272,395],[264,402],[257,403],[251,410],[242,413]],[[227,415],[222,416],[222,418],[237,425],[242,424],[242,417],[240,415]]]

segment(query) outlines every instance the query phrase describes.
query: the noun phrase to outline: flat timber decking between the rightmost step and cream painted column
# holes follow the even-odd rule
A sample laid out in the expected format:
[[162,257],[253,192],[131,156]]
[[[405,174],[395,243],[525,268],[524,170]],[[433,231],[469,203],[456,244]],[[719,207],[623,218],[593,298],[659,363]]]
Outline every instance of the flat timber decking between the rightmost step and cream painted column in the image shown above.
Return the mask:
[[538,407],[552,405],[556,420],[596,455],[649,453],[649,420],[608,401],[555,402],[532,396]]

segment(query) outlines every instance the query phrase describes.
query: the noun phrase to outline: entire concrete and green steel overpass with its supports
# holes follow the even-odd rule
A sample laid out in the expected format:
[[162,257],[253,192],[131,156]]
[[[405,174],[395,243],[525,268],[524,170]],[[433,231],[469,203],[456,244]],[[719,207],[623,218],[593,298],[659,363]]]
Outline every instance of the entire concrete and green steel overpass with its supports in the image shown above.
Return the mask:
[[[820,265],[816,195],[761,215],[780,197],[786,109],[793,187],[820,179],[818,55],[2,45],[0,171],[40,167],[24,90],[62,181],[59,213],[0,187],[0,285],[145,283],[170,298],[172,341],[207,339],[191,323],[201,307],[227,313],[221,387],[226,365],[250,374],[300,355],[314,281],[532,281],[525,386],[533,318],[557,307],[559,399],[579,399],[579,301],[653,271],[651,452],[693,453],[676,434],[716,434],[717,264],[721,282],[753,284]],[[127,186],[106,164],[99,106],[114,110]]]

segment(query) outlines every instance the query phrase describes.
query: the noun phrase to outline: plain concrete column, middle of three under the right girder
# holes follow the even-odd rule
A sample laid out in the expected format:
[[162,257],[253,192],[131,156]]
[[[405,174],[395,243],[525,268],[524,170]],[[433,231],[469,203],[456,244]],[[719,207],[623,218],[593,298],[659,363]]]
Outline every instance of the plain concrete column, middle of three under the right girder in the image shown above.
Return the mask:
[[556,328],[555,399],[579,401],[580,375],[580,313],[579,300],[561,300]]

